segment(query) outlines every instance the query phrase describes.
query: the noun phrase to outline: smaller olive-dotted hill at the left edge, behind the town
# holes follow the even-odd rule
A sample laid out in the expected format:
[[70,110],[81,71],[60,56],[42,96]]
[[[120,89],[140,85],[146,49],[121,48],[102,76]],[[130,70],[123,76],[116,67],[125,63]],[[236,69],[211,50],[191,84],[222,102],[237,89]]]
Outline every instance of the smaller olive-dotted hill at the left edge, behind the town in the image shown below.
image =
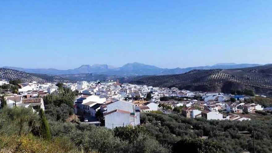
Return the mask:
[[13,79],[21,79],[25,82],[39,82],[39,83],[45,83],[45,82],[69,82],[67,79],[63,79],[59,76],[50,76],[46,74],[30,74],[18,70],[12,70],[12,69],[6,69],[6,68],[0,68],[0,78],[1,79],[7,79],[7,80],[13,80]]

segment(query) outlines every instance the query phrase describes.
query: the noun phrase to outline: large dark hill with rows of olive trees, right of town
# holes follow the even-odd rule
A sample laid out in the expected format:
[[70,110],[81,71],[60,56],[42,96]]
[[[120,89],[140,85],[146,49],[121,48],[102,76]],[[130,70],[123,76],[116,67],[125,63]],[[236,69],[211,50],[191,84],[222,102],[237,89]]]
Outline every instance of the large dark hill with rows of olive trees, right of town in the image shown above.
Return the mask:
[[150,76],[130,83],[154,87],[179,87],[193,91],[253,89],[259,94],[272,94],[272,65],[241,69],[191,70],[185,74]]

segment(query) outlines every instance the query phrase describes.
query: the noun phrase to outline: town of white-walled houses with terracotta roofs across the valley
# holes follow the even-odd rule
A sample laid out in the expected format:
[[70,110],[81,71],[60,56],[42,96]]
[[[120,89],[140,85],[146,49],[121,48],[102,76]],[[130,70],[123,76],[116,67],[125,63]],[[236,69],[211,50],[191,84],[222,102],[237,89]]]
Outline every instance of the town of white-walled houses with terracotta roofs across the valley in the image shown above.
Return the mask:
[[[0,83],[9,84],[9,81],[1,80]],[[40,108],[45,110],[42,97],[58,91],[57,83],[24,82],[18,85],[18,94],[5,94],[9,108],[16,106],[29,107],[33,111]],[[140,112],[180,114],[187,118],[202,117],[207,120],[243,121],[251,120],[246,114],[264,109],[259,104],[244,103],[244,100],[250,98],[246,95],[179,90],[176,87],[151,87],[119,83],[118,80],[80,81],[63,83],[63,86],[78,92],[74,101],[76,115],[83,116],[89,124],[97,124],[100,122],[96,115],[97,111],[100,111],[104,115],[105,127],[110,129],[140,125]]]

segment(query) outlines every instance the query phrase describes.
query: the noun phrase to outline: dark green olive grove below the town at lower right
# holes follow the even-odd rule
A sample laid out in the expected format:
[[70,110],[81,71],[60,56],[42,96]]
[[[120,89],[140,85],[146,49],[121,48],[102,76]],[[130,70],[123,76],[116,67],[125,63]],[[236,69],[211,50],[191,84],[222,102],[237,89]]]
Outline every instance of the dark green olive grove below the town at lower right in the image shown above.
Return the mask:
[[[148,132],[150,132],[151,135],[155,136],[156,140],[158,140],[161,144],[165,146],[168,145],[170,146],[170,148],[171,146],[174,146],[172,148],[172,151],[180,150],[186,152],[186,148],[184,149],[181,146],[188,147],[188,144],[191,145],[192,141],[193,144],[195,144],[194,141],[198,138],[207,138],[207,140],[212,141],[212,144],[218,142],[218,144],[224,149],[223,152],[253,152],[253,130],[255,130],[256,152],[272,152],[271,120],[207,121],[202,118],[191,120],[176,114],[165,115],[155,113],[142,113],[141,122],[141,125],[145,126]],[[246,131],[249,134],[240,134],[239,132],[242,131]],[[182,143],[180,143],[180,140],[183,140],[184,138],[187,138],[190,141],[183,141]],[[184,143],[186,145],[184,145]],[[202,144],[202,142],[200,144]],[[207,144],[205,145],[209,144],[210,142],[207,142]],[[197,146],[201,147],[201,145]],[[191,148],[190,151],[193,152],[193,148]],[[209,151],[212,150],[209,149]],[[199,150],[198,152],[205,151]]]

